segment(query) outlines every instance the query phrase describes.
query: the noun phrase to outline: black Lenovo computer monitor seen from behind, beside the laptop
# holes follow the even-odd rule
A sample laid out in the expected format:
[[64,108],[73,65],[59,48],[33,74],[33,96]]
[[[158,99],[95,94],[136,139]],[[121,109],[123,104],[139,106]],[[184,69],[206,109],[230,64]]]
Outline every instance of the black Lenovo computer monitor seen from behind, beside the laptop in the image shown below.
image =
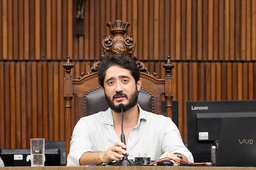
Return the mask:
[[[223,117],[256,118],[256,100],[188,101],[187,148],[194,162],[211,162]],[[235,133],[235,132],[234,132]]]

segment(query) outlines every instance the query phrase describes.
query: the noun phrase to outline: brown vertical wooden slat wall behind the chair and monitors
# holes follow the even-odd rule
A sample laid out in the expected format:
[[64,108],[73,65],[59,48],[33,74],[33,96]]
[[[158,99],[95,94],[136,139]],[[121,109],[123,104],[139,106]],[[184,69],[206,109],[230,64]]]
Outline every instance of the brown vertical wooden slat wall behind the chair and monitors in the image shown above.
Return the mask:
[[[129,22],[134,55],[160,78],[170,55],[174,100],[186,142],[186,101],[256,99],[256,3],[253,0],[0,1],[0,149],[29,139],[64,140],[62,64],[73,78],[103,55],[107,22]],[[111,10],[110,10],[111,9]],[[84,30],[76,34],[77,30]],[[74,122],[73,122],[74,123]]]

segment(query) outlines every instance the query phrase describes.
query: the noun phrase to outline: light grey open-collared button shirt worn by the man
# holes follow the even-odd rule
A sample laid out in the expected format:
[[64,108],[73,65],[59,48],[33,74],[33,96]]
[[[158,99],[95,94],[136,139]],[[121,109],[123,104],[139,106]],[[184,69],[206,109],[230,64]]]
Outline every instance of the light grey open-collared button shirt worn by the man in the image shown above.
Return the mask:
[[[194,161],[170,118],[146,112],[140,107],[139,111],[137,125],[130,131],[126,144],[128,159],[134,159],[139,153],[141,156],[146,153],[151,160],[158,160],[164,152],[172,152],[181,153],[188,161]],[[117,141],[120,139],[114,130],[110,108],[105,112],[83,117],[77,122],[71,137],[67,166],[79,166],[79,159],[85,152],[105,152]]]

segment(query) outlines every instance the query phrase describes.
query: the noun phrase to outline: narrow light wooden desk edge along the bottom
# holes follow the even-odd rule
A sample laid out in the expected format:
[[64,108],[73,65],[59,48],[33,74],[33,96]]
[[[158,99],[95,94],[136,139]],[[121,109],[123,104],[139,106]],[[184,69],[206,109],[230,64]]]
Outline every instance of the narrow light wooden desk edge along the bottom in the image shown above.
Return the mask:
[[0,170],[256,170],[256,167],[175,166],[42,166],[0,167]]

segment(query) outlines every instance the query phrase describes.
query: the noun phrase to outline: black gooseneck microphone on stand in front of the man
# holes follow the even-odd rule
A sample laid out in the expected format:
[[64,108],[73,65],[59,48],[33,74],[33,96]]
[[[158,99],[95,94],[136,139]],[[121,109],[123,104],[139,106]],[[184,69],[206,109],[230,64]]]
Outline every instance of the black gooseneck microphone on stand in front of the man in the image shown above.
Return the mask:
[[[123,103],[120,103],[118,105],[118,108],[121,110],[122,112],[122,123],[121,123],[121,142],[125,143],[125,136],[124,136],[124,128],[123,128],[123,121],[124,121],[124,112],[123,112],[123,109],[124,109],[124,104]],[[124,150],[126,150],[126,148],[123,148]],[[120,159],[119,161],[116,161],[114,163],[111,164],[111,166],[128,166],[130,164],[133,164],[132,161],[130,161],[128,158],[127,158],[127,154],[123,154],[124,157],[123,159]]]

